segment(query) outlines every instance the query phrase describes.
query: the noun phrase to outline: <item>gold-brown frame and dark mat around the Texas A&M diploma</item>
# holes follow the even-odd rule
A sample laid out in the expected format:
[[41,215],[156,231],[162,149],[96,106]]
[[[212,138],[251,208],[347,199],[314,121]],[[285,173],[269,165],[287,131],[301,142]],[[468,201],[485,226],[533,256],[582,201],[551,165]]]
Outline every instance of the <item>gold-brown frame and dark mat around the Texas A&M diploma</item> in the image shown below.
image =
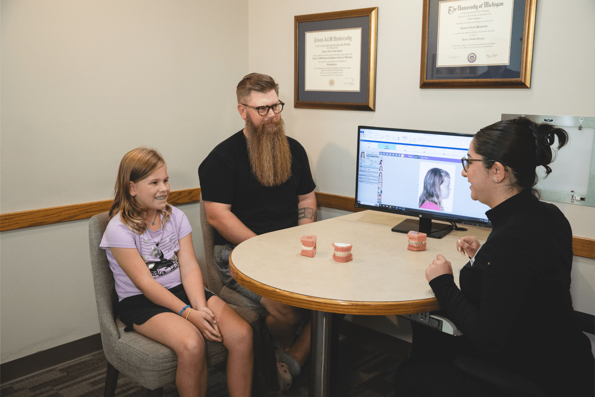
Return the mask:
[[[333,13],[296,15],[293,107],[374,111],[378,7]],[[359,91],[305,89],[305,33],[361,27]],[[329,84],[334,84],[329,80]]]

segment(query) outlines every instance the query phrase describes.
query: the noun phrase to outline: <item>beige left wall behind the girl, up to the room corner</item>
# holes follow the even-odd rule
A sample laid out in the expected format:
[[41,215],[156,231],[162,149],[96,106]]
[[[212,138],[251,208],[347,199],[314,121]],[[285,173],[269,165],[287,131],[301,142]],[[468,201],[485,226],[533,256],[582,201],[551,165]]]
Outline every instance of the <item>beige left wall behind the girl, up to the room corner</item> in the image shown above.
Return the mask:
[[[152,145],[172,190],[242,128],[248,1],[3,0],[0,212],[111,197]],[[195,229],[198,204],[180,206]],[[99,332],[87,221],[2,232],[2,362]]]

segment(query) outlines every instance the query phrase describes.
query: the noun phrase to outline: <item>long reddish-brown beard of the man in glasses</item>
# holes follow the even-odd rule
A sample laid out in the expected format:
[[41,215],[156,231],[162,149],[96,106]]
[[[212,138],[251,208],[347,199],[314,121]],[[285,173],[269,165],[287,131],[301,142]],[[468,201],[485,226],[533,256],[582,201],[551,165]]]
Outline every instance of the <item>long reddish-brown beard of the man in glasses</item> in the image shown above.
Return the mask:
[[248,114],[246,144],[252,173],[261,185],[281,185],[292,176],[292,152],[283,120],[262,123],[257,127]]

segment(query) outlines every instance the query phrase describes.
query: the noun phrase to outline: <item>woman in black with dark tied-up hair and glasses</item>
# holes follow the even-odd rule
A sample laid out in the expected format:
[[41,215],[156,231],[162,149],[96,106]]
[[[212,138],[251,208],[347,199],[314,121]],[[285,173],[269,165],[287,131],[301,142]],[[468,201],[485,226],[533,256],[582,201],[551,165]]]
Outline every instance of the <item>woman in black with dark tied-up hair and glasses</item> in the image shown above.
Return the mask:
[[440,314],[463,335],[412,324],[410,358],[395,375],[397,396],[511,395],[460,370],[459,356],[521,376],[547,396],[593,396],[595,361],[569,291],[571,227],[533,191],[537,166],[552,171],[556,138],[559,149],[568,134],[525,117],[475,134],[462,176],[471,183],[471,198],[490,207],[493,231],[483,246],[475,237],[457,242],[471,259],[459,274],[461,289],[443,255],[425,271]]

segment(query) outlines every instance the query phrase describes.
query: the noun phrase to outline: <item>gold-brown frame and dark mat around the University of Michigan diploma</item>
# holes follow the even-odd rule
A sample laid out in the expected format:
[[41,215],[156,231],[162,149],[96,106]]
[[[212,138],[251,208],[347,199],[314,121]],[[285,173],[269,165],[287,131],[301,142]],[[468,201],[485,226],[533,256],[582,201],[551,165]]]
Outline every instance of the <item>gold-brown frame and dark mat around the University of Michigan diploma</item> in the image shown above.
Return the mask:
[[[512,27],[510,64],[515,60],[519,70],[508,69],[500,72],[494,66],[436,67],[438,31],[438,7],[440,0],[424,0],[421,66],[419,68],[419,88],[530,88],[531,64],[533,61],[533,35],[537,0],[515,0]],[[524,15],[521,18],[522,11]],[[430,16],[431,15],[431,16]],[[521,38],[518,35],[522,34]],[[429,39],[429,41],[428,41]],[[522,41],[521,44],[518,41]],[[520,58],[520,62],[519,62]],[[480,69],[481,68],[481,69]],[[486,69],[483,71],[483,69]],[[493,73],[490,73],[494,70]],[[508,73],[503,73],[503,72]],[[512,73],[514,72],[514,73]],[[503,75],[509,75],[503,78]],[[518,77],[516,75],[518,75]],[[478,78],[483,75],[487,78]]]

